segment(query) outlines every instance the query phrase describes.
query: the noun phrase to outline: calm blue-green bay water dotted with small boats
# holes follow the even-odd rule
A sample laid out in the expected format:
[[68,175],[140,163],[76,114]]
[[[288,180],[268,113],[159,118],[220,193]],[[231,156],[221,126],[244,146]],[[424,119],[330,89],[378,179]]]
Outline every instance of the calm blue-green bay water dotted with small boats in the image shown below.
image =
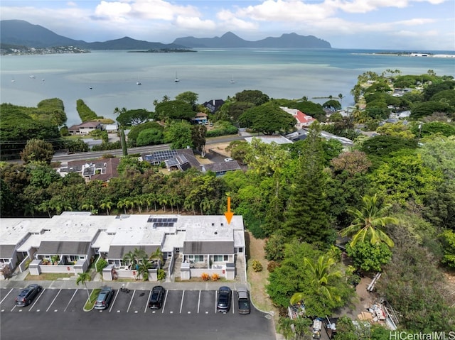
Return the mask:
[[[186,91],[196,92],[199,103],[226,99],[244,89],[258,89],[271,98],[308,97],[321,104],[328,99],[314,97],[332,95],[337,99],[343,94],[342,104],[346,107],[353,104],[350,90],[366,71],[381,73],[390,69],[421,75],[434,70],[437,75],[455,77],[455,58],[378,55],[374,53],[380,51],[373,50],[196,50],[4,55],[0,59],[0,101],[36,106],[43,99],[60,98],[71,126],[80,123],[77,99],[83,99],[97,115],[112,119],[115,107],[153,111],[154,99],[161,100],[165,95],[173,99]],[[176,76],[179,82],[174,82]]]

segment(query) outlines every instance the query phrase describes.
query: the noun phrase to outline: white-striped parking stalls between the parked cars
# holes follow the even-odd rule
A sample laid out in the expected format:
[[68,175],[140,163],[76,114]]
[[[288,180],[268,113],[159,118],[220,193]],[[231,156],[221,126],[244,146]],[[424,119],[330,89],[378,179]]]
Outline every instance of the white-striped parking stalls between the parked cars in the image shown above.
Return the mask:
[[[3,312],[82,312],[87,301],[87,290],[80,289],[43,289],[26,307],[17,307],[14,303],[19,288],[2,289],[0,311]],[[89,290],[91,292],[91,290]],[[150,314],[217,314],[217,290],[167,290],[164,305],[161,309],[149,309],[151,290],[115,290],[114,298],[108,309],[100,313],[150,313]],[[230,314],[237,314],[235,299],[237,292],[232,293]],[[252,313],[257,312],[252,308]],[[222,314],[222,313],[219,313]]]

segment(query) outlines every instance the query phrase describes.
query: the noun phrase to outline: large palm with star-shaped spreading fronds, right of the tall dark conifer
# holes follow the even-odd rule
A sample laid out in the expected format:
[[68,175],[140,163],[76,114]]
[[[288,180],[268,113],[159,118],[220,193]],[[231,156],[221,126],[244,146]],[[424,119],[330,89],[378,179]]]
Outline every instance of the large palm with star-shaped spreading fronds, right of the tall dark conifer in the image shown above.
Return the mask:
[[395,217],[386,216],[390,204],[381,204],[378,194],[373,197],[365,195],[362,197],[363,207],[361,210],[348,208],[348,213],[354,216],[352,224],[341,231],[342,236],[353,236],[350,246],[355,243],[369,240],[371,244],[385,242],[387,246],[392,247],[392,239],[385,234],[383,227],[387,224],[398,224]]

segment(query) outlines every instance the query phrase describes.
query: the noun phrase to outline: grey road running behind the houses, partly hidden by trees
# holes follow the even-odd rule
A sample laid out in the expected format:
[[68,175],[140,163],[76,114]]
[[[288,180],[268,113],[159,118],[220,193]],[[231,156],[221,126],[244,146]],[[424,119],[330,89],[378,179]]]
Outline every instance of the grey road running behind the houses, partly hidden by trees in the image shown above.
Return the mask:
[[[218,143],[229,143],[231,141],[241,141],[244,137],[242,136],[222,136],[216,138],[208,138],[205,145],[210,146]],[[160,144],[158,146],[139,146],[137,148],[128,148],[128,154],[133,153],[152,153],[154,151],[169,150],[171,144]],[[122,149],[115,150],[102,150],[102,151],[89,151],[87,153],[73,153],[68,155],[66,153],[55,153],[52,161],[53,162],[68,162],[68,160],[86,160],[101,158],[103,155],[109,153],[110,155],[119,156],[122,155]]]

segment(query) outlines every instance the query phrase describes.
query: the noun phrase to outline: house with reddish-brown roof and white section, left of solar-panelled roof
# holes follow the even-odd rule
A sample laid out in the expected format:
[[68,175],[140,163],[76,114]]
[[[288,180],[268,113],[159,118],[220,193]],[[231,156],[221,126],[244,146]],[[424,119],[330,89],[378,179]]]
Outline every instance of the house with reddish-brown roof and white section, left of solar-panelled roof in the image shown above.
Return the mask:
[[102,180],[108,182],[114,177],[118,177],[117,167],[120,158],[101,158],[98,160],[70,160],[66,165],[58,168],[61,176],[68,175],[70,172],[77,172],[85,180]]

